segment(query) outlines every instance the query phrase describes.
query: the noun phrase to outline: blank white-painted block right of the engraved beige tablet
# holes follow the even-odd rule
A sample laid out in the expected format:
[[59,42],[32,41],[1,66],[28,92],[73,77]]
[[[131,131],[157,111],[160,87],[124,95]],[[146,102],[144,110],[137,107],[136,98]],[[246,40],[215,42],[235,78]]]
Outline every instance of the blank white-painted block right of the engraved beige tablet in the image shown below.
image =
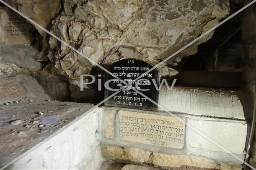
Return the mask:
[[[189,128],[188,125],[196,129],[197,132]],[[216,144],[218,143],[233,154],[243,155],[246,136],[246,121],[205,117],[187,119],[186,145],[188,147],[188,154],[200,154],[210,157],[209,151],[226,153],[225,150],[218,147]],[[206,137],[216,143],[209,141]]]

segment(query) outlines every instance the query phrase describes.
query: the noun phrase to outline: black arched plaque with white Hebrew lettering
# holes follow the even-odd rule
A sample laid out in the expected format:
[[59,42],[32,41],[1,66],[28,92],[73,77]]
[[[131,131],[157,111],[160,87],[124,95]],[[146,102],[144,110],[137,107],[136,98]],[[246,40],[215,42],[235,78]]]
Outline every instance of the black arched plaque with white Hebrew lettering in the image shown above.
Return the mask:
[[[146,72],[154,68],[150,72]],[[105,106],[115,106],[142,110],[157,110],[151,101],[134,91],[136,89],[148,98],[158,103],[160,75],[158,69],[150,63],[137,59],[123,59],[112,64],[108,70],[112,75],[105,73],[105,99],[116,91],[120,91],[105,102]],[[113,77],[116,76],[119,79]],[[137,78],[140,77],[138,80]],[[127,88],[128,87],[128,88]]]

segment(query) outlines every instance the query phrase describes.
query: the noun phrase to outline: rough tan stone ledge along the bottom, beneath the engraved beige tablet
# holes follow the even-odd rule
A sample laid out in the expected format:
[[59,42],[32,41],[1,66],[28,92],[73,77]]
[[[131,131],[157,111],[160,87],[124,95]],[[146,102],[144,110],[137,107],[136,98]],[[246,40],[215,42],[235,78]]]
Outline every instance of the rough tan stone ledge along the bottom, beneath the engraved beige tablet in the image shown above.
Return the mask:
[[[196,169],[242,169],[241,166],[219,164],[217,161],[205,157],[197,157],[190,155],[168,155],[157,152],[150,152],[139,148],[120,147],[118,145],[101,144],[101,152],[103,157],[114,160],[116,162],[133,163],[140,165],[143,163],[148,163],[153,164],[154,167],[161,167],[167,169],[183,166],[188,166],[189,169],[193,167],[198,167]],[[127,165],[125,166],[127,167]],[[137,168],[140,169],[139,167]],[[145,169],[147,168],[152,169],[150,167],[145,167]]]

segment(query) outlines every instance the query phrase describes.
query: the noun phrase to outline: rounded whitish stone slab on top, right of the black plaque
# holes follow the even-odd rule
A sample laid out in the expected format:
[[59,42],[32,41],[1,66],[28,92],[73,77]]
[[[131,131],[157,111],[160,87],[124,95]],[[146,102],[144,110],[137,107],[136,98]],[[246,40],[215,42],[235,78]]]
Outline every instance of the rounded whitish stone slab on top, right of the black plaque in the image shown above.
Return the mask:
[[174,87],[168,90],[163,87],[159,91],[158,103],[173,112],[245,119],[241,104],[245,96],[239,96],[238,93],[209,88]]

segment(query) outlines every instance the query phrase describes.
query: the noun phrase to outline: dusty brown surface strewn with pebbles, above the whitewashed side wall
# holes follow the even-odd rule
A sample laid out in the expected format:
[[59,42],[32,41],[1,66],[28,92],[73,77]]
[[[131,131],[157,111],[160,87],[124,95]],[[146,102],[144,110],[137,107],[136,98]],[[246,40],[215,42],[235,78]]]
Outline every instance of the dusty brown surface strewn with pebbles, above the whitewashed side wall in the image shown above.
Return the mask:
[[[8,106],[0,105],[1,167],[92,107],[90,104],[39,99],[24,99]],[[50,115],[56,115],[59,122],[42,125],[40,118]]]

